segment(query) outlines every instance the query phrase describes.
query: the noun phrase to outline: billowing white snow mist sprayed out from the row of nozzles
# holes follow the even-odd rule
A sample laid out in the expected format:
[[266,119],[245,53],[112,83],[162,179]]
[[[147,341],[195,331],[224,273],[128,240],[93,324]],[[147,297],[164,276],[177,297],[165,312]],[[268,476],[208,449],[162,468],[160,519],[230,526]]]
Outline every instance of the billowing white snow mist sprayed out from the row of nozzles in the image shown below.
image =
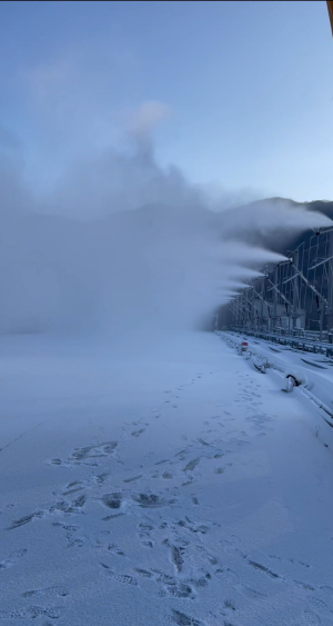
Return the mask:
[[[44,100],[46,79],[37,78]],[[1,130],[1,334],[121,340],[202,328],[243,280],[281,260],[263,249],[264,237],[330,223],[285,203],[212,206],[154,159],[153,130],[169,116],[165,105],[143,102],[124,125],[131,145],[84,149],[43,192],[27,183],[21,145]]]

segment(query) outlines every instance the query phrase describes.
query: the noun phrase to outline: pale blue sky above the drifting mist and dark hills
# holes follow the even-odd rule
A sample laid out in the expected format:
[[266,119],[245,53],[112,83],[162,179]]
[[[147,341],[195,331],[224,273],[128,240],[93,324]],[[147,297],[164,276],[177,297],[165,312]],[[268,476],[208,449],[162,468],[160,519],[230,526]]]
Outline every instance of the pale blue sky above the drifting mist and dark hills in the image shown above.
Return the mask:
[[333,200],[325,2],[1,2],[0,59],[0,137],[36,185],[128,149],[154,101],[157,160],[190,181]]

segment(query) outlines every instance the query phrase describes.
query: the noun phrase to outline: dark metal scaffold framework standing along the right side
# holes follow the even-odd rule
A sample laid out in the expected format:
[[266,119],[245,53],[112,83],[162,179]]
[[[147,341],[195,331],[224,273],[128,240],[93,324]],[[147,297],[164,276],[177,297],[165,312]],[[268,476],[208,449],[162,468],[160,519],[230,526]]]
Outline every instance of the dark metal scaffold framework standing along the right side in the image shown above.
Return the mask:
[[285,261],[265,266],[262,274],[229,304],[230,326],[332,342],[332,227],[307,235]]

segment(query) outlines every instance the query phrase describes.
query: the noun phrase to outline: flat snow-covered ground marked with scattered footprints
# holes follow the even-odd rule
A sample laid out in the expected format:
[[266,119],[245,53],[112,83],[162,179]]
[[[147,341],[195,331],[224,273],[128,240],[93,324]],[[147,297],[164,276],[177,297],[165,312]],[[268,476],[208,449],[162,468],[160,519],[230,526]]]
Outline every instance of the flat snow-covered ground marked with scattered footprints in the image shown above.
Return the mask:
[[38,341],[1,345],[3,624],[333,623],[314,407],[212,334]]

